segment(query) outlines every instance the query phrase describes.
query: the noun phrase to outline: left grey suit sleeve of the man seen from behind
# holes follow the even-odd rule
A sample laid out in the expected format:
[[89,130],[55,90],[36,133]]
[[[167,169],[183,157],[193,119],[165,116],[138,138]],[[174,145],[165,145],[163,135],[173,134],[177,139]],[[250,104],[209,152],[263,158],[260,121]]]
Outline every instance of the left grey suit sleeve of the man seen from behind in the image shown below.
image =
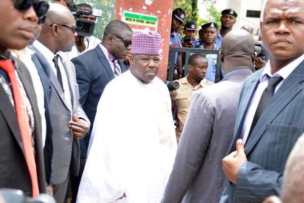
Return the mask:
[[162,202],[181,202],[191,186],[212,137],[214,108],[203,93],[196,93],[183,128],[173,170]]

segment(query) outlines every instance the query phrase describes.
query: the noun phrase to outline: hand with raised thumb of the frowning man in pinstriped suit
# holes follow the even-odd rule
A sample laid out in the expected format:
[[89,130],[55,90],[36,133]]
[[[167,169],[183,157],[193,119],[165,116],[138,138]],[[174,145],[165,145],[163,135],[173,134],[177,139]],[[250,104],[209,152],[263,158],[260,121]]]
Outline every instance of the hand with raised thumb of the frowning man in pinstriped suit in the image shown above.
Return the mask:
[[239,139],[237,141],[237,151],[232,152],[222,159],[223,171],[226,178],[236,184],[238,171],[241,165],[246,161],[247,157],[245,154],[244,143],[242,139]]

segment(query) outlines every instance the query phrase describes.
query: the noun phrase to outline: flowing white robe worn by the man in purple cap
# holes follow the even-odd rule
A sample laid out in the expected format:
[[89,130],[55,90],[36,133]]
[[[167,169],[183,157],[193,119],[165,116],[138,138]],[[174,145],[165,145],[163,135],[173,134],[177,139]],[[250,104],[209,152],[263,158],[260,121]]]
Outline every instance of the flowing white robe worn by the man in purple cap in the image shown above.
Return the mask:
[[127,71],[99,100],[77,202],[160,203],[176,148],[166,85]]

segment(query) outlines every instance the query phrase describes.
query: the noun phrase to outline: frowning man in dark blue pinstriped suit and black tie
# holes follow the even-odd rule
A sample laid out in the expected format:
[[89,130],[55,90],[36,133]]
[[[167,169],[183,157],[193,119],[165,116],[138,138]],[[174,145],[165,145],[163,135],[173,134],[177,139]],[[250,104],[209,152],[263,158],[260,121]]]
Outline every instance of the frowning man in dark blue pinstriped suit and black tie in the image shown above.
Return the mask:
[[280,195],[287,156],[304,131],[303,9],[302,0],[265,6],[261,32],[270,61],[242,87],[234,141],[222,160],[229,183],[220,202]]

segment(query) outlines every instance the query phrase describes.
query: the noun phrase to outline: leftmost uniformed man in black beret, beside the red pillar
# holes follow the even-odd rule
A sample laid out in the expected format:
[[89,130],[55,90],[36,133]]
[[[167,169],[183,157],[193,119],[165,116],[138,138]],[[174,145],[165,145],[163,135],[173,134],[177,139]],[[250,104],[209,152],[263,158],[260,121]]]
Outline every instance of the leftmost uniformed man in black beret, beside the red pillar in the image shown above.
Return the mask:
[[[171,21],[171,35],[170,35],[170,45],[171,47],[182,47],[180,36],[177,31],[180,29],[181,25],[185,23],[186,13],[181,8],[177,8],[172,12]],[[174,65],[177,66],[177,75],[179,78],[182,76],[182,59],[181,53],[175,52],[174,54]],[[175,72],[176,73],[176,72]]]

